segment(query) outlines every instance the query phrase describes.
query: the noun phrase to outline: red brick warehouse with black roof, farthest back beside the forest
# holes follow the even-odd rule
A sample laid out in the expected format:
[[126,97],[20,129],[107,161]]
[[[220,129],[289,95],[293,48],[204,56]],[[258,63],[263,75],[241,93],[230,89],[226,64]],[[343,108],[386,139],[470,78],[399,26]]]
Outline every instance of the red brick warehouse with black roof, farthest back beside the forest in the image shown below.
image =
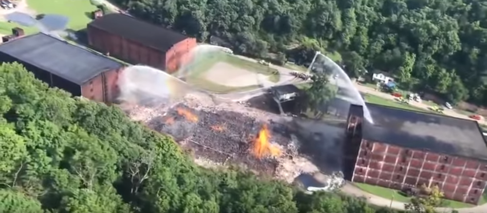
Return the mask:
[[89,45],[131,64],[173,73],[190,58],[196,39],[124,14],[108,14],[88,24]]

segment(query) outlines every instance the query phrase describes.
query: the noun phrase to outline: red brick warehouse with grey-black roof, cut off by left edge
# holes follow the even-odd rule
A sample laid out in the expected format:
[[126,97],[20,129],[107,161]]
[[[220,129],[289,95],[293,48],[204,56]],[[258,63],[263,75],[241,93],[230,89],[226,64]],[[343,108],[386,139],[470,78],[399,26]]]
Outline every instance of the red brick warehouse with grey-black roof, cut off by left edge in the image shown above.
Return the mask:
[[74,96],[112,102],[124,66],[94,51],[37,33],[0,45],[0,62],[18,62],[37,79]]

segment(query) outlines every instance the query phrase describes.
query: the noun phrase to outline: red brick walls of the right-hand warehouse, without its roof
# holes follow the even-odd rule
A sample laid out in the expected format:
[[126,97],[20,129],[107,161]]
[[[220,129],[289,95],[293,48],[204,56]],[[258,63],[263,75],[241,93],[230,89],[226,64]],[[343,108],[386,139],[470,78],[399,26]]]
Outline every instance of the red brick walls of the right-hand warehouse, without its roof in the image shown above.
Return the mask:
[[485,160],[367,140],[364,125],[370,124],[362,108],[352,106],[344,151],[347,179],[397,190],[436,185],[447,199],[479,202],[487,182]]

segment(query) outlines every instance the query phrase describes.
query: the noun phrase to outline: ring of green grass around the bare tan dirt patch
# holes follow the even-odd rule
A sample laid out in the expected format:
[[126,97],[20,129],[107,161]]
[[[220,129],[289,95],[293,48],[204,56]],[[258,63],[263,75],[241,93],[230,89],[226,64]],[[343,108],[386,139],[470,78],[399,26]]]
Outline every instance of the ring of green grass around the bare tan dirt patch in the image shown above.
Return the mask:
[[196,61],[192,63],[192,66],[187,68],[189,70],[187,71],[189,75],[187,76],[186,81],[201,89],[215,93],[240,92],[258,88],[258,85],[230,87],[206,80],[206,78],[203,77],[204,74],[217,62],[226,62],[251,72],[267,75],[271,82],[278,82],[280,78],[279,73],[277,75],[274,74],[277,72],[276,69],[246,61],[225,53],[215,53],[208,57],[196,59]]

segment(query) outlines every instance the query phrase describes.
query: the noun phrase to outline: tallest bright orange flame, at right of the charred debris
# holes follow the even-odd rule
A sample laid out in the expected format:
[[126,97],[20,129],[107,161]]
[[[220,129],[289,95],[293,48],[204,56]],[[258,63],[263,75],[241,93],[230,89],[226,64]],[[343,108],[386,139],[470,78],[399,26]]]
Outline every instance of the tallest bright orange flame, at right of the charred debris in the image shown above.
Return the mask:
[[281,155],[281,150],[269,143],[269,138],[271,134],[269,129],[267,129],[267,125],[263,125],[261,131],[259,131],[259,135],[254,140],[253,146],[253,154],[257,158],[262,158],[264,156],[279,156]]

